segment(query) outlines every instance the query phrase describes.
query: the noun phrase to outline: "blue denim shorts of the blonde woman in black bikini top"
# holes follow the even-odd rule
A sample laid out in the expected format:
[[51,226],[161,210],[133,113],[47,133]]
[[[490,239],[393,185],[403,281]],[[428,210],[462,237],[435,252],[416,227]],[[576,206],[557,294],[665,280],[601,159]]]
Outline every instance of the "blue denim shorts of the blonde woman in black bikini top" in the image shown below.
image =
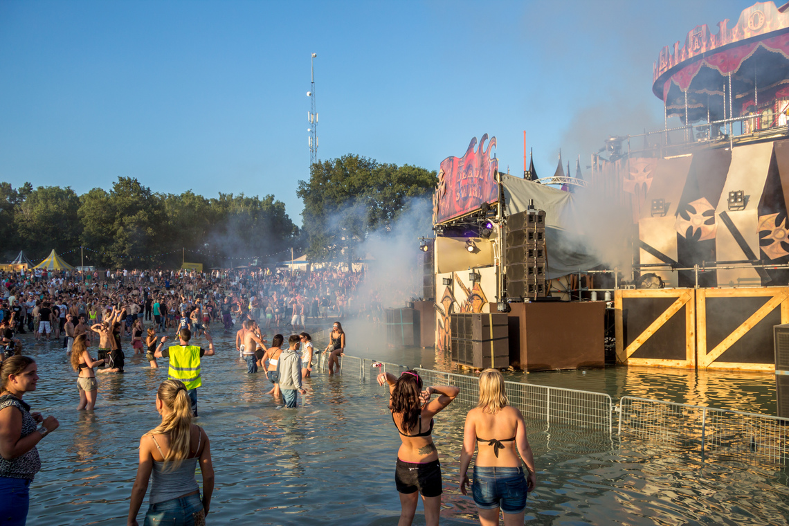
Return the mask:
[[471,494],[477,508],[501,508],[504,513],[526,509],[526,478],[520,468],[478,468],[474,466]]

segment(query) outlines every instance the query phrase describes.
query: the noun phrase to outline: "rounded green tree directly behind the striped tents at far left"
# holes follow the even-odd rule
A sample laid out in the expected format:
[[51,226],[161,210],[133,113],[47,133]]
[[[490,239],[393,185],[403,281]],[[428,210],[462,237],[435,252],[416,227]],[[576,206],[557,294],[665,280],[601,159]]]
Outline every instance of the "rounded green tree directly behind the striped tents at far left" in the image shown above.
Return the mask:
[[33,257],[79,246],[82,224],[77,215],[80,198],[70,187],[39,186],[19,203],[13,218],[24,250]]

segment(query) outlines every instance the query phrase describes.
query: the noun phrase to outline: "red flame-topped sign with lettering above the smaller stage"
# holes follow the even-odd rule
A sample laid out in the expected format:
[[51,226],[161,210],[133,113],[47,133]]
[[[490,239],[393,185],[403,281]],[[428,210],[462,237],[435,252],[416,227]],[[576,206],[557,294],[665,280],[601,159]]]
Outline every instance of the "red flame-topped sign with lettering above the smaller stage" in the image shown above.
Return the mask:
[[469,144],[462,157],[447,157],[441,162],[439,184],[433,196],[433,224],[439,224],[465,215],[481,207],[482,203],[499,200],[499,185],[495,182],[499,160],[492,157],[495,137],[488,147],[485,133],[477,150],[477,137]]

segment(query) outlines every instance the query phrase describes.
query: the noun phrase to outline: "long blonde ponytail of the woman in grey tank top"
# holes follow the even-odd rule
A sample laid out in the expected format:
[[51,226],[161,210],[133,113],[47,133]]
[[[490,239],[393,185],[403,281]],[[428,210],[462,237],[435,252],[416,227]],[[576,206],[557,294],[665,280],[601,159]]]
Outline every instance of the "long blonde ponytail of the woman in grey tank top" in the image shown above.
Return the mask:
[[189,457],[192,435],[192,404],[186,386],[179,380],[165,380],[156,391],[159,400],[170,409],[162,417],[160,423],[149,433],[153,435],[169,435],[170,447],[164,456],[165,468],[168,462],[171,469],[178,469],[186,457]]

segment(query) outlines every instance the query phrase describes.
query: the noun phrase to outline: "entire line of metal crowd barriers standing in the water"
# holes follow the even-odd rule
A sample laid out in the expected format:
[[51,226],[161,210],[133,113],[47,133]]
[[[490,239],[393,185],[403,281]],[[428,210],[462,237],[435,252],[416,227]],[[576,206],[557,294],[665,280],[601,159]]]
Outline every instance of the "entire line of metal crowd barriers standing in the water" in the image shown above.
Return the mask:
[[[340,374],[361,382],[374,382],[379,372],[399,376],[409,367],[357,356],[340,358]],[[325,367],[325,364],[324,364]],[[475,406],[479,379],[470,375],[415,369],[425,385],[460,387],[455,398]],[[510,405],[523,416],[547,423],[561,423],[602,432],[610,438],[613,415],[618,413],[620,443],[629,439],[698,453],[701,461],[716,459],[787,464],[789,419],[757,413],[709,408],[701,405],[622,397],[615,405],[608,394],[530,383],[504,382]]]

